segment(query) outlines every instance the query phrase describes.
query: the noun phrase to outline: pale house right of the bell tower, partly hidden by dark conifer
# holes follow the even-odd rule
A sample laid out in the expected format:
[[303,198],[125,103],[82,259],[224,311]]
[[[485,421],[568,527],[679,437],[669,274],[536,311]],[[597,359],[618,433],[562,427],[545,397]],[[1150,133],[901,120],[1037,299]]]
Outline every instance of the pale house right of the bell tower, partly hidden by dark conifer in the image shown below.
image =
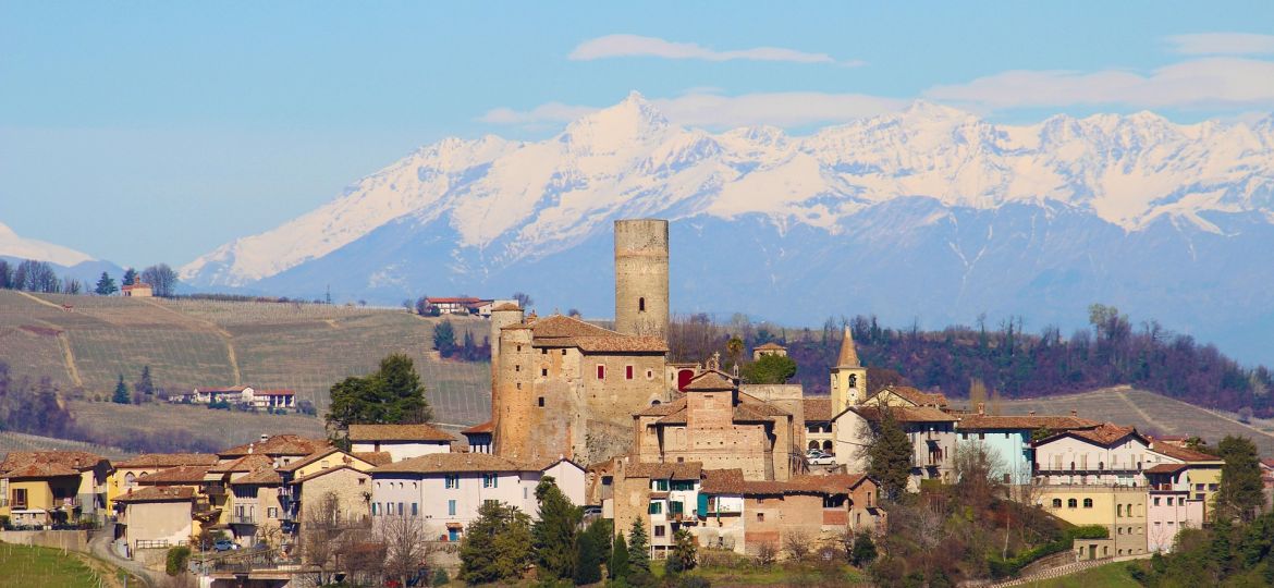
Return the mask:
[[956,457],[957,417],[931,406],[851,406],[832,417],[836,433],[836,462],[851,472],[866,471],[868,447],[888,411],[912,444],[908,491],[919,491],[925,480],[952,481]]

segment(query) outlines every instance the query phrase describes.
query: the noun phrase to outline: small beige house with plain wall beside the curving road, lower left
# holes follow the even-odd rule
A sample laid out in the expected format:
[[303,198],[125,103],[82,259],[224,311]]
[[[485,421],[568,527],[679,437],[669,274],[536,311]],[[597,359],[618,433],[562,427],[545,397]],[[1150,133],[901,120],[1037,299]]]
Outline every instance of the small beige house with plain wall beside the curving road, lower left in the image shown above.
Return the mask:
[[187,545],[195,535],[195,491],[185,486],[148,486],[116,499],[116,540],[135,557],[140,550]]

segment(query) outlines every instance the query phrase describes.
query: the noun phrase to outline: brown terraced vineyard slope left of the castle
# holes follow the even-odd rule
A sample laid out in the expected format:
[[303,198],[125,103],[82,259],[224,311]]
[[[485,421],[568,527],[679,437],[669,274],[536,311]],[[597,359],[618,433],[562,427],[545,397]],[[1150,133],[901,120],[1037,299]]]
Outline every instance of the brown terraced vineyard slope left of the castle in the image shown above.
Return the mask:
[[[106,397],[116,378],[149,365],[158,387],[292,388],[320,411],[329,387],[410,355],[442,423],[490,411],[489,365],[429,356],[438,319],[403,311],[297,303],[163,300],[0,290],[0,360],[18,377],[48,377],[73,396]],[[452,318],[478,341],[487,322]],[[80,392],[74,392],[80,388]],[[87,405],[75,405],[80,412]]]

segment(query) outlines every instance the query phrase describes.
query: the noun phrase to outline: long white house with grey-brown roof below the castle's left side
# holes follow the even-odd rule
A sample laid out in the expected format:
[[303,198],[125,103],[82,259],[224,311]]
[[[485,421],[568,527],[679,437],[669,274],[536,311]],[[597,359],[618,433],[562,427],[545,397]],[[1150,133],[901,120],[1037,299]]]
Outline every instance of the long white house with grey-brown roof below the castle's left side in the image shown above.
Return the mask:
[[538,468],[489,453],[432,453],[369,473],[373,524],[377,517],[414,517],[442,541],[459,541],[478,508],[490,500],[534,515],[535,486],[545,475],[572,503],[583,503],[583,468],[563,459]]

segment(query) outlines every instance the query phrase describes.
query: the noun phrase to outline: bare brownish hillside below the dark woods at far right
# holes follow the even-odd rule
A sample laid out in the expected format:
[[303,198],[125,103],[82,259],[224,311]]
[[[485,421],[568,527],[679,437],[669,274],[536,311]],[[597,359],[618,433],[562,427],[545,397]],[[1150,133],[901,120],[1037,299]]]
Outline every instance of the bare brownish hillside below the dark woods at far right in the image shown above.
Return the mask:
[[1116,387],[1080,395],[1001,401],[1006,415],[1066,415],[1135,425],[1143,433],[1199,435],[1215,444],[1226,435],[1250,437],[1263,456],[1274,456],[1274,434],[1249,426],[1220,412],[1198,407],[1153,392]]

